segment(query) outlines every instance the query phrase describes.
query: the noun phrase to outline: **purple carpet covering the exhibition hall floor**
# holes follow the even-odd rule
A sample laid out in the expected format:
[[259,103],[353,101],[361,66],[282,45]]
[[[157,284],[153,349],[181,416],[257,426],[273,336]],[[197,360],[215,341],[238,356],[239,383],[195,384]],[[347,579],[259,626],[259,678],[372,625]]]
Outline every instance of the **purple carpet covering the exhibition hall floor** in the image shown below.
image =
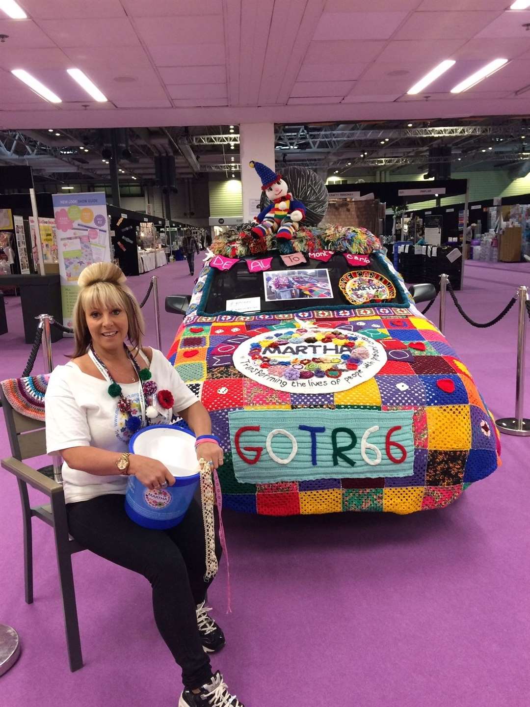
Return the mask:
[[[186,273],[182,262],[156,272],[162,308],[167,294],[191,291]],[[139,298],[151,274],[131,278]],[[530,264],[469,263],[457,294],[473,319],[490,320],[517,285],[530,284],[529,274]],[[3,378],[20,375],[30,351],[20,303],[6,298],[6,305]],[[155,345],[152,304],[143,311],[146,341]],[[178,322],[162,312],[165,352]],[[514,412],[516,327],[514,309],[492,329],[473,329],[447,305],[447,337],[497,417]],[[54,344],[55,362],[69,351],[69,339]],[[225,513],[233,613],[225,615],[223,563],[209,600],[228,643],[212,664],[246,707],[527,704],[530,440],[502,436],[502,443],[502,467],[444,510]],[[7,455],[0,423],[0,456]],[[0,623],[14,626],[23,645],[0,678],[0,704],[176,707],[179,670],[155,629],[148,583],[88,552],[73,556],[85,666],[69,672],[51,529],[34,522],[35,603],[28,606],[16,483],[4,470],[0,479]]]

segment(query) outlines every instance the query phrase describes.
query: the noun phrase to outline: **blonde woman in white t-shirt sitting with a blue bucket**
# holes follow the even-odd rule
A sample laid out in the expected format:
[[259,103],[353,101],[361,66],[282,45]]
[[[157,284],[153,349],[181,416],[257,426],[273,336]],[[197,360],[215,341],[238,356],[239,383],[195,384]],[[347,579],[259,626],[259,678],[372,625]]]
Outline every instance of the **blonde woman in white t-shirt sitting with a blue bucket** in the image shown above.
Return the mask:
[[142,346],[143,317],[125,282],[110,263],[90,265],[79,276],[76,350],[50,375],[45,397],[47,451],[64,460],[72,537],[150,581],[158,631],[182,668],[179,707],[242,707],[208,659],[225,638],[205,606],[199,503],[193,501],[170,530],[148,530],[125,512],[131,474],[149,489],[175,483],[160,462],[128,454],[129,439],[141,426],[178,414],[195,433],[197,457],[216,468],[223,463],[208,411],[160,351]]

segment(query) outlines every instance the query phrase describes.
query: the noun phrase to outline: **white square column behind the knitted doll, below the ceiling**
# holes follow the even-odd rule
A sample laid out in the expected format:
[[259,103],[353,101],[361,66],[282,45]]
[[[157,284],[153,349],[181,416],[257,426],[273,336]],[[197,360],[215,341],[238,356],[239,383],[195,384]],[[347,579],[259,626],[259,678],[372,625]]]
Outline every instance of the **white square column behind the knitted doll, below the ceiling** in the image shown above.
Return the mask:
[[[228,152],[231,152],[229,150]],[[249,167],[249,162],[262,162],[274,169],[274,124],[243,123],[240,125],[240,160],[243,199],[243,221],[252,221],[259,209],[254,208],[251,200],[261,197],[261,180],[256,170]]]

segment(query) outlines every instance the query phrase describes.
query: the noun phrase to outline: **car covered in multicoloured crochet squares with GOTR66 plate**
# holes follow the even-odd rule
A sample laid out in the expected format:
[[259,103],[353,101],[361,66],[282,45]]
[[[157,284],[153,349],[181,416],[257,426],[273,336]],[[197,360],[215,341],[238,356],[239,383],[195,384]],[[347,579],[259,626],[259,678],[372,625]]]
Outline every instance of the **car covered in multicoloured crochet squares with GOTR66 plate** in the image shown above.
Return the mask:
[[306,228],[292,243],[281,255],[248,233],[215,241],[170,350],[225,450],[223,503],[264,515],[452,503],[500,462],[469,370],[371,233]]

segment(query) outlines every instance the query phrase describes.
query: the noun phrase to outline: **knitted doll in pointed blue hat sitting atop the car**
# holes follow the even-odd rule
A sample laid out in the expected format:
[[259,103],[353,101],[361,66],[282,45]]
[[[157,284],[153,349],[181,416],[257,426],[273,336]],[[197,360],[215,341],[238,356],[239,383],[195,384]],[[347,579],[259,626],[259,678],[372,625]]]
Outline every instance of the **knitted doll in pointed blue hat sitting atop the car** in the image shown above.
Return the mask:
[[288,186],[273,170],[266,167],[261,162],[250,162],[263,185],[261,189],[272,201],[270,206],[266,206],[256,217],[259,226],[252,228],[254,238],[265,238],[276,233],[276,238],[291,240],[298,230],[298,223],[305,218],[305,206],[302,201],[293,199],[288,192]]

